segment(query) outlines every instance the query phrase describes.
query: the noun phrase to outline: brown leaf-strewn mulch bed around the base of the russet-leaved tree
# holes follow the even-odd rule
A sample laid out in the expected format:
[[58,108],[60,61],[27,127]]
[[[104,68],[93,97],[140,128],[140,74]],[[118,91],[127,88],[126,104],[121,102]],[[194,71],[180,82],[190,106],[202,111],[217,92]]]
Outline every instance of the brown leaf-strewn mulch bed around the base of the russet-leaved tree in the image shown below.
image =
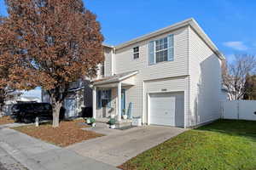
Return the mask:
[[40,125],[39,127],[32,125],[25,127],[14,127],[13,129],[61,147],[75,144],[83,140],[103,136],[99,133],[81,129],[83,127],[88,127],[81,122],[84,122],[84,120],[60,122],[60,127],[52,127],[52,125],[49,123]]

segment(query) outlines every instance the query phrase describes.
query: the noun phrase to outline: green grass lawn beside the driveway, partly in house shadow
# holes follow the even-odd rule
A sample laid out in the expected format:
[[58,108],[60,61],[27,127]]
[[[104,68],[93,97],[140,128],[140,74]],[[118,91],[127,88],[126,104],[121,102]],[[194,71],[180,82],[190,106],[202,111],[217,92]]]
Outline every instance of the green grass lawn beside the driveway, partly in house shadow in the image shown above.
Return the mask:
[[218,120],[125,162],[123,169],[256,169],[256,122]]

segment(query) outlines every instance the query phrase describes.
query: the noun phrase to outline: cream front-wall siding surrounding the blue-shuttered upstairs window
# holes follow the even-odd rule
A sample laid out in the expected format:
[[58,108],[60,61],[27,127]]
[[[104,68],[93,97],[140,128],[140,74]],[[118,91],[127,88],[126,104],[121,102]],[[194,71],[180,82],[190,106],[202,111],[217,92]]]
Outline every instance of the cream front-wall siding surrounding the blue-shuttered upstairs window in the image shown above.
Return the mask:
[[[126,71],[139,71],[136,76],[136,85],[127,88],[126,108],[129,103],[132,103],[132,116],[143,116],[143,82],[155,79],[163,79],[170,77],[183,77],[189,74],[189,59],[188,59],[188,26],[178,29],[176,31],[168,32],[158,37],[150,38],[143,42],[137,42],[125,48],[119,48],[114,55],[115,59],[115,73],[122,73]],[[174,60],[157,63],[155,65],[148,65],[148,42],[157,40],[161,37],[174,35]],[[140,55],[138,59],[133,59],[133,48],[140,47]],[[183,86],[188,88],[188,82]],[[168,88],[168,85],[166,85]],[[170,85],[169,88],[172,86]],[[183,88],[184,89],[184,88]],[[144,94],[144,99],[146,96]],[[185,104],[188,108],[188,102]],[[145,112],[145,116],[147,112]],[[146,122],[146,119],[144,119]]]

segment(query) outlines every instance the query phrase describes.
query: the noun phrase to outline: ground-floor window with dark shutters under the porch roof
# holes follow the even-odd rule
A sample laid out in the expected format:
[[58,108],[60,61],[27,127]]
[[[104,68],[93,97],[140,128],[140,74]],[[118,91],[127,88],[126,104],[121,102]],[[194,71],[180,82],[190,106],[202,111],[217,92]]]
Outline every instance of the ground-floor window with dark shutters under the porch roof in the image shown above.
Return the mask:
[[97,106],[98,108],[111,107],[111,89],[97,91]]

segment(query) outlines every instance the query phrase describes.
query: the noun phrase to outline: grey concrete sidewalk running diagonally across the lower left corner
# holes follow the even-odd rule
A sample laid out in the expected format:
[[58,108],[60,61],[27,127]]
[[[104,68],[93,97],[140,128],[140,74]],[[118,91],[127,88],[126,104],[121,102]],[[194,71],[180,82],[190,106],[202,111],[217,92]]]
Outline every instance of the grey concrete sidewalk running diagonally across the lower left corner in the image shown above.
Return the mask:
[[0,148],[30,170],[118,169],[3,126],[0,127]]

